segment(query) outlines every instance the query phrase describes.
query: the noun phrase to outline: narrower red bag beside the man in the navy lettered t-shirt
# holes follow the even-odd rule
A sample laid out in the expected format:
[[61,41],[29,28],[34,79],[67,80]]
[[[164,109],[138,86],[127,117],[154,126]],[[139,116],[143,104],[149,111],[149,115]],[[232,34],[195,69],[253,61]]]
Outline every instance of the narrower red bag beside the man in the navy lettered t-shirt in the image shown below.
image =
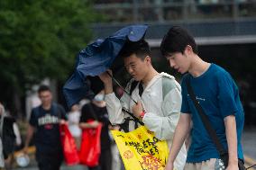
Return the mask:
[[75,139],[69,131],[68,125],[60,124],[59,131],[65,163],[68,166],[77,165],[79,163],[78,148]]

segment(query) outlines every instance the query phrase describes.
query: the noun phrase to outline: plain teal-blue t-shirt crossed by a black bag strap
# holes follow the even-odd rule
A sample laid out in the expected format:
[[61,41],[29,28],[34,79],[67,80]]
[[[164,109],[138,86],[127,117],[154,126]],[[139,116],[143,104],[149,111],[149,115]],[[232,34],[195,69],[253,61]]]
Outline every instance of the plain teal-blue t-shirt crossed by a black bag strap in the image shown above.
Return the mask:
[[[215,129],[218,138],[224,148],[227,149],[225,136],[224,118],[235,115],[236,131],[238,141],[238,157],[243,159],[241,136],[243,129],[244,113],[240,101],[238,87],[233,82],[233,78],[224,68],[215,64],[198,77],[189,74],[182,79],[182,105],[181,112],[191,113],[193,127],[191,130],[191,145],[187,152],[187,162],[196,163],[206,161],[210,158],[219,158],[217,149],[212,139],[210,139],[197,109],[187,94],[186,79],[197,97],[197,101],[202,106],[204,112]],[[184,80],[184,81],[183,81]]]

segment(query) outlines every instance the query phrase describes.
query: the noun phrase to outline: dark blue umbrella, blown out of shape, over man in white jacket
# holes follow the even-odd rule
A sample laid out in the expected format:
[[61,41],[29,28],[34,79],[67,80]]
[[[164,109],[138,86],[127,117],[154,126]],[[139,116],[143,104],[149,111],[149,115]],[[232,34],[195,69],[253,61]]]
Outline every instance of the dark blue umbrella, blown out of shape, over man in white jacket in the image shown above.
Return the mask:
[[69,108],[82,98],[92,98],[97,90],[103,89],[100,80],[93,76],[100,75],[112,66],[126,40],[142,40],[147,29],[147,25],[124,27],[105,39],[96,40],[79,52],[75,72],[63,87]]

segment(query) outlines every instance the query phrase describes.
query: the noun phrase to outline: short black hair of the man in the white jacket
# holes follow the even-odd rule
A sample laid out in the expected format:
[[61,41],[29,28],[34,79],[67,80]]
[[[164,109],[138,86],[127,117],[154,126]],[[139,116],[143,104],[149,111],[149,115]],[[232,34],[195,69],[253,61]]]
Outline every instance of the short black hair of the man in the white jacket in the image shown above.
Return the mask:
[[123,45],[123,48],[120,50],[119,56],[122,58],[128,58],[133,54],[142,59],[151,55],[149,43],[143,39],[135,42],[127,40]]

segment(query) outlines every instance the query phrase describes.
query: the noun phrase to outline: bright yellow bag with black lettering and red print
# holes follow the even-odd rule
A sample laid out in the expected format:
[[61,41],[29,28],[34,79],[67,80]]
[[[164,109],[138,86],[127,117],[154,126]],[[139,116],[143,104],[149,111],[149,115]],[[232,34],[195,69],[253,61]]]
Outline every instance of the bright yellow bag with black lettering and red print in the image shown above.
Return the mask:
[[163,170],[169,155],[165,140],[141,126],[130,132],[111,130],[126,170]]

